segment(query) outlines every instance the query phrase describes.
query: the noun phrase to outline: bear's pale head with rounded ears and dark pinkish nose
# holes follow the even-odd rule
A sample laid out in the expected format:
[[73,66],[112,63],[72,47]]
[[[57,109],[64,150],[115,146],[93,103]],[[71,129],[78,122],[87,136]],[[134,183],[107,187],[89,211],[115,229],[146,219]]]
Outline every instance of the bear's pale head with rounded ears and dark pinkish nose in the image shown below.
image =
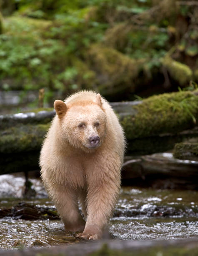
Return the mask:
[[106,114],[99,93],[94,101],[82,99],[66,105],[55,100],[54,108],[61,136],[70,145],[88,153],[102,145],[106,135]]

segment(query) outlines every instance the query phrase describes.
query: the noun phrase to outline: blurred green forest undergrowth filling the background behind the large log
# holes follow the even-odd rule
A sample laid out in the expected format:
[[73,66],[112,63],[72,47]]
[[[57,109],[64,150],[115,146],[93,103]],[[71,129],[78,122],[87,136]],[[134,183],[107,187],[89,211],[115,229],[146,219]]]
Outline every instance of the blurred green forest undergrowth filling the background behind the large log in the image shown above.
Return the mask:
[[[143,86],[143,81],[146,83],[156,72],[161,73],[161,67],[168,70],[178,86],[187,86],[192,77],[196,80],[197,32],[189,26],[189,36],[183,36],[186,33],[182,31],[183,24],[176,27],[177,13],[189,20],[193,8],[185,5],[176,8],[175,0],[0,2],[4,15],[12,13],[3,19],[3,33],[0,18],[0,87],[3,90],[45,87],[45,100],[54,90],[65,94],[88,88],[108,96],[114,89],[118,93],[127,88],[126,92],[133,93],[134,88]],[[100,45],[101,49],[96,47],[95,54],[90,54],[94,45]],[[170,57],[175,62],[163,63],[161,59],[173,45],[178,51],[177,57]],[[109,54],[105,53],[108,59],[103,59],[105,65],[96,64],[96,55],[103,55],[106,48]],[[108,56],[113,52],[119,56],[119,64],[109,61]],[[192,63],[190,67],[183,55],[193,59],[188,61]],[[129,59],[131,64],[125,65],[124,59]],[[175,66],[184,72],[175,74]],[[104,82],[105,77],[109,82]]]

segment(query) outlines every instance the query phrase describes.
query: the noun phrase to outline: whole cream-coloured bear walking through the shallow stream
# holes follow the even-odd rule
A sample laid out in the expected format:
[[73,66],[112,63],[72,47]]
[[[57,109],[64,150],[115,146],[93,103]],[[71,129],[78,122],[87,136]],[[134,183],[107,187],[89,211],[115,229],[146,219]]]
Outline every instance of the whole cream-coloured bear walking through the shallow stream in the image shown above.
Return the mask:
[[118,198],[123,129],[99,93],[81,91],[65,102],[55,100],[54,108],[57,115],[40,154],[41,177],[65,230],[96,240]]

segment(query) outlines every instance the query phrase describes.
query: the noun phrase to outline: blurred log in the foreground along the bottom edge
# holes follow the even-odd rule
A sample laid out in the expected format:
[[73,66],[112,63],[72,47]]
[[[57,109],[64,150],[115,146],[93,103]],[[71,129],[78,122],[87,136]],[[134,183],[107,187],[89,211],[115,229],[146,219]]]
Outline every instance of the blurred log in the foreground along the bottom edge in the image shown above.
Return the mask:
[[0,256],[196,256],[198,239],[173,241],[117,241],[102,240],[94,243],[53,246],[50,248],[28,248],[20,250],[0,250]]

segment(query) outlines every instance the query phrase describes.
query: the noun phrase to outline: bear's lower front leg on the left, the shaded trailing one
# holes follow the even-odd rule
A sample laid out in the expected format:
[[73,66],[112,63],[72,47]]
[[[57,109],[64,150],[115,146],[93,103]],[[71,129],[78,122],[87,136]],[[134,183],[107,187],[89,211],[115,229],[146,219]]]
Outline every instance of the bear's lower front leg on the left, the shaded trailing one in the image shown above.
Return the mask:
[[53,201],[63,220],[66,231],[83,231],[85,221],[80,215],[78,209],[78,195],[74,189],[55,190],[53,192]]

